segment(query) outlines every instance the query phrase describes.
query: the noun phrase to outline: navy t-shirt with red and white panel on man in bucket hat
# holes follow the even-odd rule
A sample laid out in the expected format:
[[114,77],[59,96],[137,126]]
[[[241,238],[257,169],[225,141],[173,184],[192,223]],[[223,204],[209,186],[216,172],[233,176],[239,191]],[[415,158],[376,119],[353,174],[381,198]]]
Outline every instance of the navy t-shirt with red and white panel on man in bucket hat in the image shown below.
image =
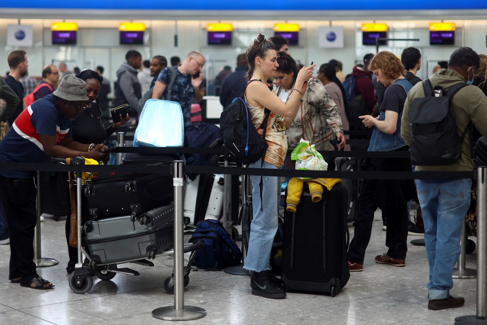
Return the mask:
[[[57,136],[56,143],[72,137],[71,120],[60,116],[54,95],[41,98],[20,113],[0,142],[0,161],[46,162],[48,157],[44,153],[39,134]],[[11,178],[29,178],[35,174],[35,171],[30,170],[0,169],[0,175]]]

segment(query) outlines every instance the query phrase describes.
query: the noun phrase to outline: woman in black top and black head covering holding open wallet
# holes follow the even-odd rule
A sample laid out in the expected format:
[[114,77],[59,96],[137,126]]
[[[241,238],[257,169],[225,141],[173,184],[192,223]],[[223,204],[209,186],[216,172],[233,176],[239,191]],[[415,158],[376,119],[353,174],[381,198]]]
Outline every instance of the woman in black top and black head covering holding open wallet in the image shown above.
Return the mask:
[[[76,77],[86,82],[86,96],[88,96],[89,104],[88,107],[78,115],[76,120],[73,121],[73,140],[85,144],[103,143],[113,132],[115,132],[116,129],[118,129],[119,126],[127,123],[130,116],[127,115],[125,118],[120,116],[120,122],[113,123],[108,128],[105,128],[102,122],[102,112],[98,103],[95,101],[96,98],[98,98],[98,93],[102,87],[103,77],[93,70],[84,70]],[[84,205],[84,202],[82,205]],[[89,219],[89,216],[85,213],[87,209],[81,209],[81,211],[83,212],[82,221],[85,222]],[[66,240],[68,242],[70,226],[70,213],[68,213],[68,218],[66,219]],[[70,261],[68,262],[66,271],[71,274],[78,261],[78,250],[68,245],[68,253]]]

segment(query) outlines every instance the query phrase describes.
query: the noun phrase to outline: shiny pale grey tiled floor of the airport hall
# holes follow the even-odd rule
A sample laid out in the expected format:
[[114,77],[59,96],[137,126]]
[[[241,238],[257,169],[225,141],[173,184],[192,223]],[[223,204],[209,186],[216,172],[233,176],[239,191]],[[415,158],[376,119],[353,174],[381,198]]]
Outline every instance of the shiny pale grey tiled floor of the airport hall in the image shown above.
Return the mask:
[[[184,292],[188,306],[204,308],[204,318],[167,321],[152,317],[155,308],[173,306],[174,296],[165,293],[163,283],[171,275],[172,260],[158,257],[155,267],[130,264],[140,276],[118,274],[111,281],[94,277],[86,294],[69,287],[64,222],[46,218],[41,224],[42,256],[59,260],[54,267],[38,269],[52,281],[52,290],[33,290],[8,281],[9,246],[0,246],[0,324],[102,325],[102,324],[453,324],[454,318],[476,313],[476,280],[454,280],[452,294],[465,297],[462,308],[432,311],[427,308],[428,265],[425,249],[408,247],[405,268],[377,264],[374,256],[385,252],[385,231],[376,214],[365,269],[352,273],[336,297],[288,292],[284,300],[270,300],[250,294],[249,277],[224,272],[191,272]],[[350,227],[353,236],[353,227]],[[418,239],[409,236],[409,240]],[[475,268],[476,254],[467,256],[467,267]]]

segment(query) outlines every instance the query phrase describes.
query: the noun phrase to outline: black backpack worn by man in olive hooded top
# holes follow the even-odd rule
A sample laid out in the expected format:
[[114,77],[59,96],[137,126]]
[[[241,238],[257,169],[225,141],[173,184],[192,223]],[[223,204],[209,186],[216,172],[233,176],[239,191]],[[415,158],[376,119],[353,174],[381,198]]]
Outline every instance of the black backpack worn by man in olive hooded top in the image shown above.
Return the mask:
[[413,165],[449,165],[462,156],[463,138],[471,124],[461,135],[458,134],[451,102],[453,96],[466,85],[459,82],[445,92],[440,86],[433,90],[429,79],[423,81],[426,97],[415,98],[409,108]]

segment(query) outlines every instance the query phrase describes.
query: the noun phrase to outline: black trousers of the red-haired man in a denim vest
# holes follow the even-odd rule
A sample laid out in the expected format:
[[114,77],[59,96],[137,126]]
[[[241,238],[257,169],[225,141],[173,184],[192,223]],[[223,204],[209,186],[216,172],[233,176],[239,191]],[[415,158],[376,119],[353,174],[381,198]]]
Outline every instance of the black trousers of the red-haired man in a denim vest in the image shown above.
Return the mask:
[[[383,170],[384,159],[369,159],[366,170]],[[388,180],[387,182],[394,182]],[[400,181],[397,181],[398,188]],[[389,184],[390,185],[390,184]],[[379,180],[363,180],[359,198],[356,204],[355,231],[353,239],[348,248],[348,260],[352,263],[364,263],[365,251],[370,242],[374,213],[379,207],[378,200],[382,202],[380,208],[387,219],[387,230],[385,235],[385,245],[388,247],[387,255],[392,258],[405,259],[407,252],[407,234],[409,213],[407,211],[407,201],[398,201],[386,197],[377,198],[378,186],[383,186]],[[389,191],[390,192],[390,191]],[[382,194],[383,195],[383,194]]]

